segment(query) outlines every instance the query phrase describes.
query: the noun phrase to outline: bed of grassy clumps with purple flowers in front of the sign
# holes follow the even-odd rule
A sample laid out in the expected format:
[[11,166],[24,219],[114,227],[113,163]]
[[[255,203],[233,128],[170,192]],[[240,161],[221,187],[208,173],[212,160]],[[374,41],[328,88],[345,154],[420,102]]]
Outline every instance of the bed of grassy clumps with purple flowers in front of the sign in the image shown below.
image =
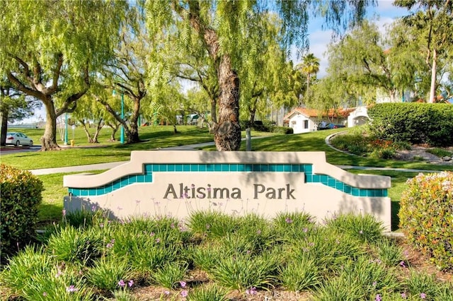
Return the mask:
[[[197,215],[202,219],[202,213]],[[212,212],[206,216],[212,218]],[[386,237],[359,241],[348,222],[336,221],[348,225],[338,228],[329,221],[314,223],[304,213],[281,213],[274,220],[234,216],[229,223],[234,227],[223,237],[192,235],[174,218],[133,218],[102,227],[96,222],[84,228],[66,223],[56,228],[49,244],[27,247],[12,257],[0,273],[0,285],[20,300],[137,300],[131,288],[149,283],[173,290],[168,295],[176,298],[176,290],[183,288],[188,300],[226,300],[227,288],[253,295],[257,288],[275,286],[311,300],[378,300],[378,295],[399,300],[402,294],[409,300],[419,300],[421,294],[428,300],[452,299],[451,284],[424,273],[409,274],[410,269],[397,266],[404,259],[393,242]],[[292,227],[294,232],[285,235]],[[372,227],[380,228],[369,223]],[[84,239],[97,242],[99,237],[101,254],[88,259]],[[196,276],[184,282],[199,269],[209,283]]]

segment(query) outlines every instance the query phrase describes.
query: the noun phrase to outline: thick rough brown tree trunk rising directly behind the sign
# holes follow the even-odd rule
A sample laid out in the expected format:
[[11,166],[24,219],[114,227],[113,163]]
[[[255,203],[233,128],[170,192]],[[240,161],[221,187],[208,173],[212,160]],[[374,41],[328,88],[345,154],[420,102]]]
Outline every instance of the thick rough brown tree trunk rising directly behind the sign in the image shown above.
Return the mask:
[[239,151],[239,77],[231,69],[231,58],[224,54],[219,64],[219,122],[214,129],[217,151]]

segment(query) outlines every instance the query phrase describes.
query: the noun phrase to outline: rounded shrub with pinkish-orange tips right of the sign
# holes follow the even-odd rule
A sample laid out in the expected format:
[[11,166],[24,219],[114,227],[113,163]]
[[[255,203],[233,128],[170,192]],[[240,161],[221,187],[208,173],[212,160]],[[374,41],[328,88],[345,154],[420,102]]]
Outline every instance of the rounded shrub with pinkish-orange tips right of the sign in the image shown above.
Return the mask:
[[419,174],[401,196],[400,227],[438,268],[453,268],[453,172]]

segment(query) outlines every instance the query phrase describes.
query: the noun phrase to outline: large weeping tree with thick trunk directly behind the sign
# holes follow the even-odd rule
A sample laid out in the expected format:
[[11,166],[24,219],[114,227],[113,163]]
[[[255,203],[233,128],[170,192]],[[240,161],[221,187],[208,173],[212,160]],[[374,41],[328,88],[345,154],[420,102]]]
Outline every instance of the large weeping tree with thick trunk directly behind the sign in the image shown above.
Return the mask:
[[[307,13],[310,8],[322,8],[326,20],[338,25],[345,11],[351,4],[354,8],[350,16],[360,19],[365,13],[365,6],[374,1],[279,1],[282,17],[282,45],[289,48],[296,37],[304,36]],[[321,7],[322,6],[322,7]],[[147,1],[147,25],[151,36],[161,41],[163,35],[176,33],[189,40],[190,31],[197,35],[194,42],[202,43],[203,50],[213,62],[219,85],[219,115],[214,124],[214,141],[218,151],[236,151],[241,144],[239,126],[239,76],[234,70],[235,59],[241,57],[241,51],[251,32],[256,28],[263,11],[269,7],[262,1]],[[325,9],[324,9],[325,8]]]

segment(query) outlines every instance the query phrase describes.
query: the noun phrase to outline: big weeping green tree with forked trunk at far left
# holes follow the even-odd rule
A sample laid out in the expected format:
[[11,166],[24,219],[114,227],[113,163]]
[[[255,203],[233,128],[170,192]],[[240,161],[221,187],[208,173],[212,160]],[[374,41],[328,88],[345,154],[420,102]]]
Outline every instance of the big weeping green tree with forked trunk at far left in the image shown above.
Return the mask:
[[57,117],[74,112],[113,57],[127,1],[3,1],[1,72],[45,106],[42,151],[59,149]]

